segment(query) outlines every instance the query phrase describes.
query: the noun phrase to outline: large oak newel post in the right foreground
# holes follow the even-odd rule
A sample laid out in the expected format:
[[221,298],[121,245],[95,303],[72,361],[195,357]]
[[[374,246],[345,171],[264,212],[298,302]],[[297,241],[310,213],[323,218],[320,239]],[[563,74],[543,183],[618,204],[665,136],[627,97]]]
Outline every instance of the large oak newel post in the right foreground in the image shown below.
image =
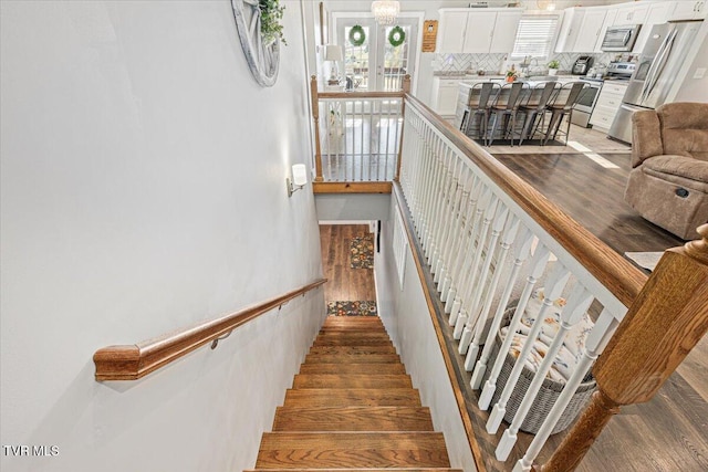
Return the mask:
[[708,331],[708,224],[669,249],[597,359],[598,391],[553,455],[534,471],[572,471],[623,405],[652,399]]

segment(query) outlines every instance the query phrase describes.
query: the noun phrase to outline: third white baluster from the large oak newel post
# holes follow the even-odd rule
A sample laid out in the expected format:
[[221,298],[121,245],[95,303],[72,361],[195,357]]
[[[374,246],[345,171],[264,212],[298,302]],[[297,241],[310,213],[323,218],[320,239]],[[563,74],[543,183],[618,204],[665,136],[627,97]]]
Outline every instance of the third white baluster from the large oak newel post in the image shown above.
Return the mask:
[[[544,298],[541,304],[541,311],[535,315],[535,321],[531,324],[531,329],[529,331],[529,335],[527,340],[521,348],[521,353],[517,358],[517,361],[511,369],[511,374],[509,374],[509,379],[507,380],[507,385],[504,385],[504,389],[501,392],[501,397],[497,405],[494,405],[492,409],[492,413],[489,416],[489,420],[487,421],[487,432],[490,434],[494,434],[501,424],[501,420],[503,415],[499,417],[499,411],[506,412],[507,402],[511,398],[511,394],[513,392],[514,387],[517,386],[517,381],[521,376],[521,370],[523,370],[523,365],[525,363],[527,357],[531,353],[533,348],[533,343],[535,338],[539,336],[541,332],[541,327],[543,326],[543,318],[545,318],[545,314],[553,306],[553,301],[561,295],[563,287],[568,283],[570,279],[570,271],[563,266],[560,262],[555,262],[551,274],[546,281],[546,287],[544,290]],[[517,326],[509,326],[509,332],[507,333],[507,338],[513,338],[513,333],[517,331]],[[508,350],[500,350],[499,357],[503,358]]]

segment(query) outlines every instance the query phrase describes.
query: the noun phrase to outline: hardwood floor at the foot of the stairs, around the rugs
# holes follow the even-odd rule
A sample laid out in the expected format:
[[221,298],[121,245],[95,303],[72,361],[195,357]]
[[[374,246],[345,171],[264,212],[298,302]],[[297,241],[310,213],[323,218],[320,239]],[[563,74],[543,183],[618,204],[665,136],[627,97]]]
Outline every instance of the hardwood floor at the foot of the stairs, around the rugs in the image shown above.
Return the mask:
[[374,270],[352,269],[350,262],[352,240],[366,234],[371,234],[367,224],[320,225],[325,302],[376,300]]

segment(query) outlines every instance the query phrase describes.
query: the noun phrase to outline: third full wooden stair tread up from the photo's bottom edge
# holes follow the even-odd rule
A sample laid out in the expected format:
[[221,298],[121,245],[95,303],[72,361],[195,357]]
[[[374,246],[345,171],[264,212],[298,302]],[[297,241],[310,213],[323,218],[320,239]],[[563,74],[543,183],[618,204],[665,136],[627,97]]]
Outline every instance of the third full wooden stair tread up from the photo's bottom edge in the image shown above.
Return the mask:
[[420,406],[420,394],[413,388],[309,388],[288,389],[284,406],[347,407]]

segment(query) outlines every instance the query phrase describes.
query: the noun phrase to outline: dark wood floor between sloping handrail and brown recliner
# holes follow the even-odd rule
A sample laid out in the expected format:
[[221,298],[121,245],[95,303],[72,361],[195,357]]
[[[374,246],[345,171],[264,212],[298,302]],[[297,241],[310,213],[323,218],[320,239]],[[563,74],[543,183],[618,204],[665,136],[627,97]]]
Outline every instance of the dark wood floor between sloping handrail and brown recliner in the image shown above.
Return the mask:
[[494,157],[620,254],[683,245],[683,240],[646,221],[625,203],[629,155],[602,156],[620,168],[603,168],[580,153]]

